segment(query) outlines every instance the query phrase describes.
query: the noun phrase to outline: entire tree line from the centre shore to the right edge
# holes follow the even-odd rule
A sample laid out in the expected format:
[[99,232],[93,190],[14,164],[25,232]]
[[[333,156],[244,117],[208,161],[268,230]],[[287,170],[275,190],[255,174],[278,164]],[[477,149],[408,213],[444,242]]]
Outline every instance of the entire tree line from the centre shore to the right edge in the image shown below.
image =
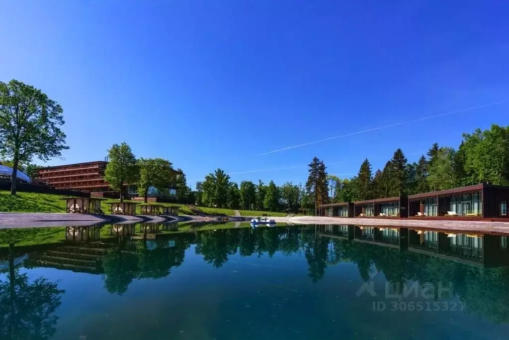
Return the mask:
[[240,186],[222,169],[196,183],[196,204],[231,209],[314,211],[330,202],[413,195],[480,183],[509,185],[509,127],[492,125],[462,135],[457,149],[434,143],[417,162],[409,163],[403,150],[394,151],[382,169],[373,172],[366,158],[356,176],[339,178],[326,171],[322,160],[308,164],[304,186],[291,181],[277,186],[262,180],[243,180]]

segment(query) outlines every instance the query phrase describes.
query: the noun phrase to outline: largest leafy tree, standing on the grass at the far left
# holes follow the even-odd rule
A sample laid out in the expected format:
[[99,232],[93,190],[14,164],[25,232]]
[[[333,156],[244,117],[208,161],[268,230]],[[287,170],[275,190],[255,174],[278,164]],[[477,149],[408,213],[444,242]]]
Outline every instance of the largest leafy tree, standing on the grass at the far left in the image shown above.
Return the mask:
[[68,149],[60,104],[22,82],[0,82],[0,155],[12,158],[11,195],[16,195],[20,163],[47,161]]

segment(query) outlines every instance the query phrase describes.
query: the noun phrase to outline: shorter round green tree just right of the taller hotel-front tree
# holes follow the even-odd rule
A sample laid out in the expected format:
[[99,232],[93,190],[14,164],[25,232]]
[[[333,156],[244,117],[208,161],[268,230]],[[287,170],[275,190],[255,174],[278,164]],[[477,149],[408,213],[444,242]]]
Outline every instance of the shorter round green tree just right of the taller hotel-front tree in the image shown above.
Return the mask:
[[167,189],[172,176],[172,165],[162,158],[140,158],[138,160],[139,179],[138,194],[144,197],[147,203],[147,195],[150,187],[159,191]]

